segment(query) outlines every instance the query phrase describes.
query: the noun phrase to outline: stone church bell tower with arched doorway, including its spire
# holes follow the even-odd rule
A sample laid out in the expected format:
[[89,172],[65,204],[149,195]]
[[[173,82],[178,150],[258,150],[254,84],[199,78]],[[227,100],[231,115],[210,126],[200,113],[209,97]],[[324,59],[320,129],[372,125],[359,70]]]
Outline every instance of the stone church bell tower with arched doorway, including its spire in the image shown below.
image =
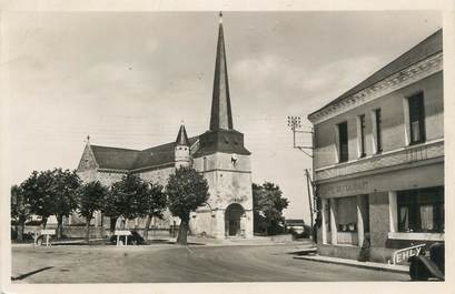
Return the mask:
[[253,237],[250,152],[234,129],[222,14],[219,14],[209,130],[199,135],[194,168],[209,183],[206,206],[194,214],[191,232],[218,239]]

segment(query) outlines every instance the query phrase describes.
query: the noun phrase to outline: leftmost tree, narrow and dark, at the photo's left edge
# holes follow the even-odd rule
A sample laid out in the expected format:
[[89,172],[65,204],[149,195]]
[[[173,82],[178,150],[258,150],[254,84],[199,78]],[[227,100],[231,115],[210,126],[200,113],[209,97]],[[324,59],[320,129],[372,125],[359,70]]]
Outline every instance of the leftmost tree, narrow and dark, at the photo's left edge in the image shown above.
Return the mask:
[[[16,232],[18,232],[18,240],[21,241],[23,236],[23,229],[26,221],[30,216],[30,207],[24,197],[23,190],[20,185],[11,186],[11,219],[16,221]],[[19,226],[18,226],[19,224]]]

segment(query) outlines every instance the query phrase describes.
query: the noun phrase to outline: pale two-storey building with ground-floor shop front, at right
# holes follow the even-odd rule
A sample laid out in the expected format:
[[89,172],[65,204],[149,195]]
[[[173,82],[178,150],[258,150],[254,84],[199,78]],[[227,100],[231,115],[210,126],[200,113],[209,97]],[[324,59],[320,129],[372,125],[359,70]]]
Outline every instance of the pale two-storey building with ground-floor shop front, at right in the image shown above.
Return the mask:
[[444,242],[442,30],[308,115],[318,252],[387,262]]

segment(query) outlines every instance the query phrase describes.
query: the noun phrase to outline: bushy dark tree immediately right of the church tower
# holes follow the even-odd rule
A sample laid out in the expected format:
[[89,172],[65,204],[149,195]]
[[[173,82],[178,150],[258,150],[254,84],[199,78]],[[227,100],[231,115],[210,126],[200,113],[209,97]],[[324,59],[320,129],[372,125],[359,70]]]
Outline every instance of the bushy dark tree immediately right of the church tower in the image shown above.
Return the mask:
[[276,234],[279,224],[284,221],[283,210],[289,201],[283,197],[278,185],[265,182],[263,185],[253,184],[253,207],[255,223],[259,220],[265,222],[266,234]]

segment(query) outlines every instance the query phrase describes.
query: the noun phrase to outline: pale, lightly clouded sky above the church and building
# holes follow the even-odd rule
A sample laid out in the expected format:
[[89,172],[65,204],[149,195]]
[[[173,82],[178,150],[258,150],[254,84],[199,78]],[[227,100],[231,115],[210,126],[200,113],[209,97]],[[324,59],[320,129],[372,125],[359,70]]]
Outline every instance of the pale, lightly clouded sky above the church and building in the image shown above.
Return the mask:
[[[146,149],[209,128],[218,12],[10,12],[1,31],[3,159],[10,184],[76,169],[90,142]],[[224,12],[234,128],[253,180],[308,219],[288,115],[307,115],[442,27],[437,11]],[[309,136],[298,143],[310,144]]]

